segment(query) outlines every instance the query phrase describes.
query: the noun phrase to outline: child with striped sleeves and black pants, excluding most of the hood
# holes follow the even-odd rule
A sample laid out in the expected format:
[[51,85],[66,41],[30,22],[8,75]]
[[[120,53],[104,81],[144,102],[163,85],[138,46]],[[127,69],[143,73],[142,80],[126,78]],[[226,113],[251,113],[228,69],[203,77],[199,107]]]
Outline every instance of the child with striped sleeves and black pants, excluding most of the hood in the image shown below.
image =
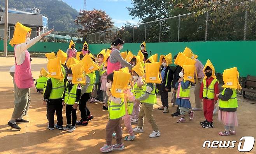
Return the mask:
[[[77,64],[75,64],[77,65]],[[73,65],[72,65],[73,66]],[[73,69],[74,72],[74,69]],[[79,99],[81,96],[81,84],[73,84],[73,73],[72,67],[67,71],[67,82],[65,84],[65,94],[63,94],[62,104],[66,106],[66,117],[67,117],[67,125],[63,130],[68,130],[68,132],[74,132],[75,123],[76,123],[76,110],[77,105],[79,103]],[[72,125],[71,125],[71,115],[72,115]]]

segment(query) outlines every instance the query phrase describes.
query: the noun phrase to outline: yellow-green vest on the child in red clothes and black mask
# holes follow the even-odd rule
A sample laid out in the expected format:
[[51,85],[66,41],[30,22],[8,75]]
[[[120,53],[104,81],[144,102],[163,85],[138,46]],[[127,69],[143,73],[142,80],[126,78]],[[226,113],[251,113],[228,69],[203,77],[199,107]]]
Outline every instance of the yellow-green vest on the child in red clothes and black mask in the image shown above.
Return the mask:
[[217,79],[213,79],[208,88],[206,87],[206,80],[203,79],[203,98],[214,99],[214,85],[219,82]]

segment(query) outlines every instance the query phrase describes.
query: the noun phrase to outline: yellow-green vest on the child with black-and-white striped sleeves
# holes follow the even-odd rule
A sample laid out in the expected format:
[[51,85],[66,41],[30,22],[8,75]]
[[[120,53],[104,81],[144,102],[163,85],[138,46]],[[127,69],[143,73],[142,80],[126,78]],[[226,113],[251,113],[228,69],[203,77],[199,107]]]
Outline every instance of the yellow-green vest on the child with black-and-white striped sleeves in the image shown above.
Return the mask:
[[68,105],[75,104],[77,86],[78,86],[78,84],[74,84],[71,91],[68,92],[68,81],[66,82],[66,91],[65,91],[65,103],[66,104],[68,104]]

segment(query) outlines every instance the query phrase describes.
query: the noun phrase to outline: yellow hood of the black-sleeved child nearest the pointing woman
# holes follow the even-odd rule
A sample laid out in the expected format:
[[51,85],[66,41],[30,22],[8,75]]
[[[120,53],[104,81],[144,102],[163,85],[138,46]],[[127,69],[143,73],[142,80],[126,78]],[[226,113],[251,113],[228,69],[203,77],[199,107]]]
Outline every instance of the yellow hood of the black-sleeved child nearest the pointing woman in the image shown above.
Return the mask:
[[64,75],[61,71],[60,57],[50,59],[47,63],[47,69],[49,70],[49,74],[47,75],[47,77],[53,77],[60,80],[64,78]]

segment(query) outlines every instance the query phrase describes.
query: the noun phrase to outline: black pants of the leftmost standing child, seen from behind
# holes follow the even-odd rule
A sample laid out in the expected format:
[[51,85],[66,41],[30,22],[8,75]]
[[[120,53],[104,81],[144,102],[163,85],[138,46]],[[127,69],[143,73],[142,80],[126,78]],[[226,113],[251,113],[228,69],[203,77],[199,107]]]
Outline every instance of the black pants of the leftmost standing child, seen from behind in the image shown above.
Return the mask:
[[54,128],[54,113],[56,112],[57,116],[57,125],[63,125],[63,118],[62,118],[62,100],[61,99],[49,99],[47,101],[46,109],[47,109],[47,120],[49,121],[49,127]]

